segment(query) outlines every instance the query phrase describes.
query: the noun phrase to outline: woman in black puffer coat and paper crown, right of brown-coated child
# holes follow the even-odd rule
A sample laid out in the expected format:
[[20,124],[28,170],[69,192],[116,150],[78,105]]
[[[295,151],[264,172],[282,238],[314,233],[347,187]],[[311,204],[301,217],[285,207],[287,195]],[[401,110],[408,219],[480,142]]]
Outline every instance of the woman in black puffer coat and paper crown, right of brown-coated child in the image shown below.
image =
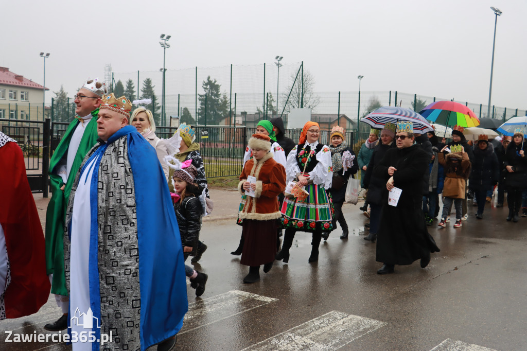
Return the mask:
[[469,188],[474,191],[477,202],[476,218],[483,218],[487,191],[497,184],[500,177],[500,164],[492,144],[486,135],[480,135],[480,140],[474,148],[474,162],[469,178]]

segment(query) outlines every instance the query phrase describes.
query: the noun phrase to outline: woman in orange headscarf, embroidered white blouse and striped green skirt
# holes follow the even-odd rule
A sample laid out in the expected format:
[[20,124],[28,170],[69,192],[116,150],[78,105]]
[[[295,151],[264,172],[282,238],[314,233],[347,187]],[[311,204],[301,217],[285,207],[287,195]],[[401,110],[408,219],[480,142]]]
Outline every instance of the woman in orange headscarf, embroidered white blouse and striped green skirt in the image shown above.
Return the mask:
[[331,187],[333,170],[329,148],[318,142],[318,123],[307,122],[300,134],[299,144],[287,157],[287,182],[296,181],[298,187],[305,187],[307,198],[286,198],[282,204],[282,226],[286,228],[281,251],[277,260],[289,261],[289,248],[297,231],[313,233],[309,262],[318,260],[318,246],[322,231],[333,230],[333,203],[326,192]]

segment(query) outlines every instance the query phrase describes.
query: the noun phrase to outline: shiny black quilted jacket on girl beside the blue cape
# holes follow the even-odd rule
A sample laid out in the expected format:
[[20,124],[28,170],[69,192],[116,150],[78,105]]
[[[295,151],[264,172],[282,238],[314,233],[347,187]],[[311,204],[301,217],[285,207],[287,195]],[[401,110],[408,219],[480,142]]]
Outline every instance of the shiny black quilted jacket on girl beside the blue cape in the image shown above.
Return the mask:
[[175,217],[178,219],[179,235],[181,236],[181,243],[183,246],[192,247],[190,256],[196,255],[198,248],[199,231],[201,229],[201,216],[203,215],[203,207],[199,196],[199,189],[192,186],[187,186],[187,194],[191,194],[174,203]]

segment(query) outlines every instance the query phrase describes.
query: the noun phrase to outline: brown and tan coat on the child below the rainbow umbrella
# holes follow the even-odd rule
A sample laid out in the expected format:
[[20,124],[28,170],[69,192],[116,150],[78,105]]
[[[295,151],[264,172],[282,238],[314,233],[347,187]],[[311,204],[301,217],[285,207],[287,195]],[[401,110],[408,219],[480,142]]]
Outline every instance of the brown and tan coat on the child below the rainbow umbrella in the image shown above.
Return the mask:
[[443,152],[440,152],[437,155],[439,157],[439,163],[445,169],[443,196],[446,198],[464,199],[466,193],[466,180],[469,179],[471,167],[469,155],[466,152],[463,152],[461,159],[462,170],[458,170],[457,172],[452,170],[452,162],[450,161],[450,158],[455,157],[459,159],[459,154],[449,153],[446,155],[446,158]]

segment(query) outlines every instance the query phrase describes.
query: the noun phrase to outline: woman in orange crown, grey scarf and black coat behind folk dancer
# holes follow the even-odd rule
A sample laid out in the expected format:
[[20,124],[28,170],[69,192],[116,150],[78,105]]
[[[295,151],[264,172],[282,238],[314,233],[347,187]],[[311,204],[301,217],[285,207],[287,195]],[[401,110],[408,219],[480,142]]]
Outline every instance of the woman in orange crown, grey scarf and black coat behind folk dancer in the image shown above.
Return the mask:
[[[342,228],[342,235],[340,239],[348,237],[348,224],[342,213],[342,205],[344,204],[344,196],[346,194],[346,186],[348,185],[349,176],[357,173],[359,167],[355,159],[355,152],[348,147],[344,140],[344,128],[335,125],[331,129],[329,135],[329,150],[331,151],[331,163],[333,164],[333,180],[331,181],[331,198],[333,199],[333,206],[335,213],[333,216],[333,229],[337,228],[337,220]],[[322,233],[324,240],[329,237],[329,232]]]

